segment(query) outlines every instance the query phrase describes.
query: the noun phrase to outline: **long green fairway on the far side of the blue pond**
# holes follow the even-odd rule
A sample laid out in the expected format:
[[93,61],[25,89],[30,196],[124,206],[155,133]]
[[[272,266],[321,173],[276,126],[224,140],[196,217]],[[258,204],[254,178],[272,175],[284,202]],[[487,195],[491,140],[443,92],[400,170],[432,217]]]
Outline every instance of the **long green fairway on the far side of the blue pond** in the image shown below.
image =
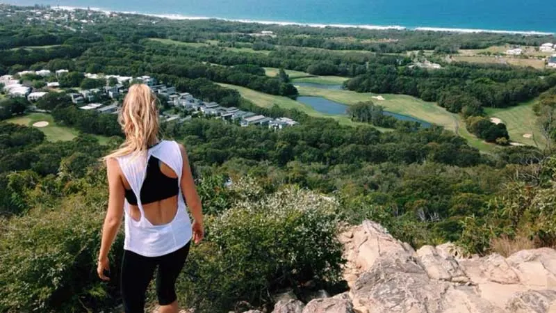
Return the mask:
[[375,104],[384,106],[386,111],[410,115],[419,120],[443,126],[445,129],[456,131],[457,114],[450,113],[432,102],[411,97],[408,95],[382,95],[384,100],[373,99],[371,93],[356,93],[350,90],[327,90],[321,88],[299,87],[300,95],[325,97],[329,100],[343,104],[356,104],[357,102],[373,101]]

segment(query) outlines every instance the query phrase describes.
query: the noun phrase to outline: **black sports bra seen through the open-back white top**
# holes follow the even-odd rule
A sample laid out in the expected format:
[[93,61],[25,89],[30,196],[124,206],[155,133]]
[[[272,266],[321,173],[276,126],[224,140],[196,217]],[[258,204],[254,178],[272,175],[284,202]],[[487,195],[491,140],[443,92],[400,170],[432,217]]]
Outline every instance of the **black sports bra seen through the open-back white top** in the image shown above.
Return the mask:
[[[145,181],[140,191],[141,203],[149,204],[178,194],[178,179],[164,175],[160,168],[160,160],[156,157],[150,157],[147,162]],[[133,190],[126,189],[126,200],[131,205],[137,205],[137,196]]]

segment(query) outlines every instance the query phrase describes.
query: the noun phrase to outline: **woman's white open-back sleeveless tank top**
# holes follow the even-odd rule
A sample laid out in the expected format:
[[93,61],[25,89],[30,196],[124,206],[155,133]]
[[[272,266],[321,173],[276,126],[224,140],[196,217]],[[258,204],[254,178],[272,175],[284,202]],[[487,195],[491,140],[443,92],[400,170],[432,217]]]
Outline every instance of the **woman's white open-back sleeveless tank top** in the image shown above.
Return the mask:
[[134,220],[129,214],[129,202],[125,200],[125,240],[124,249],[136,252],[145,257],[159,257],[174,252],[185,246],[193,234],[191,221],[183,201],[181,188],[178,193],[178,209],[174,219],[165,225],[152,225],[145,218],[145,211],[140,199],[140,191],[147,174],[147,160],[151,156],[163,161],[172,168],[178,176],[178,184],[181,182],[181,170],[183,160],[181,150],[175,141],[161,141],[158,145],[149,148],[143,155],[127,155],[118,157],[117,162],[124,176],[131,186],[131,190],[137,196],[137,206],[141,212],[140,220]]

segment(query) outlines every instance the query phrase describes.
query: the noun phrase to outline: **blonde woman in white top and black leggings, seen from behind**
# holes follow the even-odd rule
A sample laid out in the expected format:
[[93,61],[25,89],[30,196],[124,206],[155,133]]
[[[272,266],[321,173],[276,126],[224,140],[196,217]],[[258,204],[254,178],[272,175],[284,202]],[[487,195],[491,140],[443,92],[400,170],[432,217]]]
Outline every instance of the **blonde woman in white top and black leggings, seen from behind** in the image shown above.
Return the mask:
[[125,215],[121,287],[127,313],[144,312],[145,292],[155,268],[160,312],[178,312],[177,276],[186,262],[190,239],[199,243],[204,236],[201,201],[186,150],[174,141],[158,140],[156,103],[148,86],[129,88],[118,119],[126,140],[104,158],[110,196],[97,272],[102,280],[109,280],[108,252]]

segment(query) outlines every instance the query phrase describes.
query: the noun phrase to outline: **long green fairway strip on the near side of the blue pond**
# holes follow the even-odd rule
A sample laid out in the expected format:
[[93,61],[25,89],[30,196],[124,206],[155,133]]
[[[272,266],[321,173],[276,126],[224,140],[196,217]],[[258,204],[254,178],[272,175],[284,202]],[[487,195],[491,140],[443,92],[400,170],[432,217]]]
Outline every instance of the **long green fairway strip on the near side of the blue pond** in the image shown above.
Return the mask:
[[[311,108],[306,104],[302,104],[301,102],[297,102],[293,99],[288,97],[281,97],[276,95],[268,95],[267,93],[260,93],[259,91],[252,90],[245,87],[229,85],[227,83],[218,83],[218,85],[226,88],[232,88],[238,90],[240,95],[245,99],[249,100],[250,102],[256,104],[257,106],[262,106],[263,108],[270,108],[273,105],[280,106],[284,109],[296,109],[306,113],[309,116],[313,116],[316,118],[333,118],[337,120],[341,125],[350,125],[350,126],[357,126],[357,125],[368,125],[359,122],[352,122],[350,118],[343,115],[328,115],[324,113],[320,113],[315,109]],[[384,129],[381,127],[376,127],[380,131],[391,131],[392,129]]]

